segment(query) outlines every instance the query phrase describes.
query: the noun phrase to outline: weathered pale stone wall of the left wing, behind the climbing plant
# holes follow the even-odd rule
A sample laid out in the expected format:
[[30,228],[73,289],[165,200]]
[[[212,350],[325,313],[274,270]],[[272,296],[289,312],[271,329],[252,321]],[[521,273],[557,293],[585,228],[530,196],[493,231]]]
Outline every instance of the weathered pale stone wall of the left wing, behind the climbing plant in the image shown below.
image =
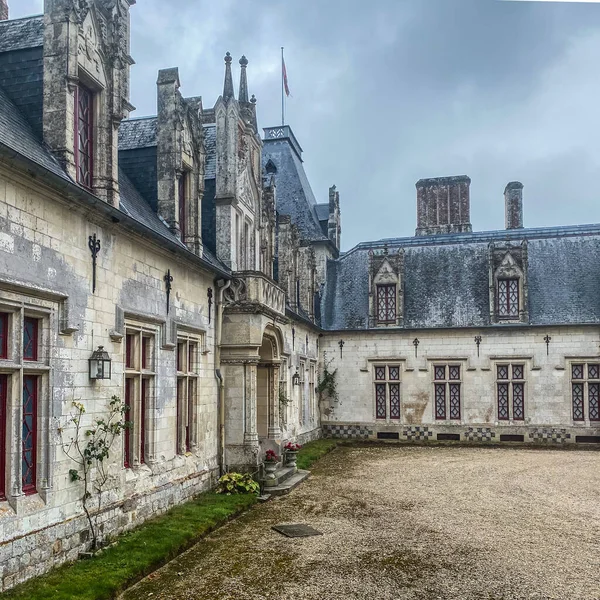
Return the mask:
[[[191,255],[189,260],[176,256],[2,165],[0,232],[0,312],[11,315],[9,356],[0,359],[0,369],[9,375],[7,500],[0,502],[6,558],[0,561],[0,571],[8,588],[85,547],[83,538],[77,543],[83,529],[82,488],[69,479],[69,469],[76,465],[62,444],[73,435],[73,401],[83,403],[85,419],[91,422],[107,415],[111,396],[124,399],[128,326],[144,328],[154,340],[153,363],[144,374],[151,381],[144,416],[145,456],[140,456],[138,415],[132,443],[140,450],[133,453],[132,468],[123,467],[122,438],[111,452],[105,505],[114,508],[103,517],[103,535],[140,523],[210,484],[218,467],[217,385],[214,306],[211,318],[207,291],[215,284],[213,275]],[[92,293],[88,240],[94,235],[101,250]],[[169,269],[173,281],[167,314],[164,278]],[[28,315],[40,323],[35,363],[22,360],[21,323]],[[183,334],[199,343],[198,393],[195,442],[190,451],[178,454],[175,349]],[[88,359],[98,346],[112,359],[112,377],[92,382]],[[39,377],[36,493],[29,495],[22,490],[20,466],[23,373]],[[123,505],[131,498],[134,503]],[[60,539],[64,546],[49,553]]]

